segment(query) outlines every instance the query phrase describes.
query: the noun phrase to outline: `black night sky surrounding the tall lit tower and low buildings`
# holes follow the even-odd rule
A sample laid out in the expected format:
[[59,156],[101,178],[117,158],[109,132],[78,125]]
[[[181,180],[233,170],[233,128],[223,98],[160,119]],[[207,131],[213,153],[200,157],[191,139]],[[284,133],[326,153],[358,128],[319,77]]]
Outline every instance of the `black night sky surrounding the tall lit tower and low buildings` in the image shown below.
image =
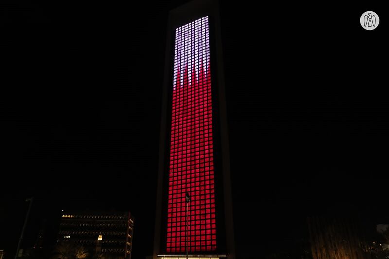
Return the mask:
[[[185,1],[53,2],[0,11],[0,250],[13,256],[34,195],[26,245],[61,209],[130,210],[133,258],[144,258],[167,15]],[[293,246],[308,215],[388,224],[387,10],[251,5],[221,4],[239,255]],[[367,10],[380,16],[374,31],[359,24]]]

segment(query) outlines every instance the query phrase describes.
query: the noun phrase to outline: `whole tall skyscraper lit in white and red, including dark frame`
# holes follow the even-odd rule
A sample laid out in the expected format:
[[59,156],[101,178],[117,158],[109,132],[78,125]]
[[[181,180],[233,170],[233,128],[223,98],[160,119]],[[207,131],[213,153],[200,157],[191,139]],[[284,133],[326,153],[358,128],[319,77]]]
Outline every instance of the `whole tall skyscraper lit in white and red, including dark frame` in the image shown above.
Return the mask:
[[167,32],[155,258],[186,253],[192,258],[234,258],[223,77],[216,1],[195,0],[172,10]]

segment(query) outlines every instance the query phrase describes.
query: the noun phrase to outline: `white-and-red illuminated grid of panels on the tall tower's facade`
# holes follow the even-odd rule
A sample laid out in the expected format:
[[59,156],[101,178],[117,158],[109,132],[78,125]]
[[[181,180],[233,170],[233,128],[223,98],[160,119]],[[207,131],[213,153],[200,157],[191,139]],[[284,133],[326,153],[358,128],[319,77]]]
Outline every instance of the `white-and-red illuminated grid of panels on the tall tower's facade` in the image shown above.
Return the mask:
[[203,17],[176,29],[166,243],[171,253],[185,252],[186,236],[190,252],[216,250],[208,28]]

